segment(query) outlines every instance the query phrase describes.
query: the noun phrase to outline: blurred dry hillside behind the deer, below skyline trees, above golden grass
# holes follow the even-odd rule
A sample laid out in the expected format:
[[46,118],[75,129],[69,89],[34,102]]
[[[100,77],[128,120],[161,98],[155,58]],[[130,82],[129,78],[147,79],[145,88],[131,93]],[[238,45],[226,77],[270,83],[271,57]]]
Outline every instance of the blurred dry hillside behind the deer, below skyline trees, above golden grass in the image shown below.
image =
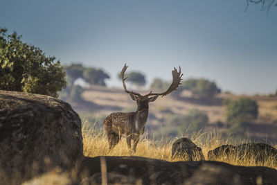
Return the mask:
[[[147,94],[149,91],[140,91]],[[226,106],[224,99],[235,100],[241,97],[248,97],[258,103],[258,118],[250,125],[245,125],[244,139],[262,139],[264,141],[277,141],[277,97],[276,96],[236,96],[233,94],[219,94],[211,102],[203,103],[200,100],[190,98],[189,93],[184,91],[181,97],[172,96],[159,97],[154,103],[150,103],[148,131],[157,135],[182,136],[184,131],[175,132],[176,125],[170,125],[167,121],[173,116],[182,116],[191,109],[199,109],[208,116],[208,123],[202,132],[211,132],[215,129],[230,134],[226,127]],[[85,89],[82,98],[91,104],[84,106],[84,103],[73,104],[73,107],[82,118],[89,121],[96,121],[96,125],[102,126],[102,120],[111,112],[131,112],[136,110],[136,103],[125,94],[122,89],[109,89],[107,87],[92,86]],[[72,105],[72,104],[71,104]],[[93,122],[94,122],[93,121]],[[178,125],[178,124],[177,124]],[[173,133],[173,134],[172,134]]]

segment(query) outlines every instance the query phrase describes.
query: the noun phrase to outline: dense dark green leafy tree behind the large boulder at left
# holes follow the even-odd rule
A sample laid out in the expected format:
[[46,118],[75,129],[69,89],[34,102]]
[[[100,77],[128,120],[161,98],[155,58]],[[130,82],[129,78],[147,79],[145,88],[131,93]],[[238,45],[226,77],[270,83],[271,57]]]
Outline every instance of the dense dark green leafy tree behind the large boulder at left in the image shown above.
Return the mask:
[[66,87],[64,68],[55,57],[21,41],[16,32],[0,28],[0,89],[57,97]]

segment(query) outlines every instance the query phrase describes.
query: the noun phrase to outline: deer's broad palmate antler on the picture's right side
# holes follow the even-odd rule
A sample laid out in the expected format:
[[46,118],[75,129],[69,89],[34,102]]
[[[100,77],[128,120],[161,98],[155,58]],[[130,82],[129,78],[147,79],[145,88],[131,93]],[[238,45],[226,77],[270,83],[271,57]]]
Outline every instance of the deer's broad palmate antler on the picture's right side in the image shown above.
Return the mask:
[[165,92],[163,93],[152,93],[152,91],[150,91],[150,93],[147,95],[147,96],[166,96],[168,94],[170,94],[172,91],[175,91],[177,89],[177,87],[179,87],[179,85],[181,85],[181,77],[183,76],[184,74],[181,74],[181,67],[179,67],[179,72],[177,71],[176,68],[174,68],[174,70],[172,70],[172,77],[173,77],[173,80],[172,80],[172,84],[170,85],[170,87],[168,88],[168,90],[166,90]]

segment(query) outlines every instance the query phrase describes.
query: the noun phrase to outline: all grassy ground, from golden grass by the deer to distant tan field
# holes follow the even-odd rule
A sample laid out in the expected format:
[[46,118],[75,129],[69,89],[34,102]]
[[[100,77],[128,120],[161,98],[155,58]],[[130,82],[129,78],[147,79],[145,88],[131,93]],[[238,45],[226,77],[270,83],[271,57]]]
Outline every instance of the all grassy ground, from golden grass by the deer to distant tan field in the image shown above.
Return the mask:
[[[99,87],[100,88],[100,87]],[[142,94],[148,93],[141,92]],[[224,99],[235,100],[240,97],[245,96],[236,96],[233,94],[220,94],[215,97],[215,102],[213,105],[205,105],[204,103],[197,103],[195,101],[191,101],[189,98],[184,96],[183,99],[177,100],[170,96],[165,96],[163,98],[158,98],[154,103],[150,103],[150,114],[154,115],[154,118],[151,119],[147,123],[147,125],[156,125],[161,127],[166,127],[167,125],[162,125],[161,120],[167,114],[165,112],[170,112],[170,115],[184,115],[190,111],[190,109],[199,109],[205,112],[208,115],[208,122],[210,125],[217,123],[217,121],[221,121],[222,123],[226,123],[226,107],[222,103],[218,103],[218,100],[222,101]],[[275,135],[275,126],[277,122],[277,97],[275,96],[247,96],[253,100],[256,100],[259,106],[258,119],[256,123],[253,123],[253,133],[262,136],[265,138],[264,142],[267,143],[267,136]],[[139,156],[139,157],[149,157],[154,159],[162,159],[166,161],[179,161],[181,159],[171,159],[171,146],[172,143],[178,138],[170,138],[164,136],[160,137],[159,140],[149,139],[146,133],[141,141],[139,141],[139,145],[137,147],[136,153],[132,154],[129,152],[126,144],[126,140],[122,139],[120,143],[109,152],[107,137],[105,135],[104,130],[102,129],[102,119],[105,118],[111,112],[117,112],[113,109],[105,109],[106,106],[112,105],[118,107],[123,112],[130,112],[136,109],[136,103],[129,98],[129,96],[120,89],[107,89],[106,87],[93,87],[92,89],[87,89],[82,94],[82,98],[84,100],[96,103],[104,107],[103,109],[96,109],[94,114],[98,118],[96,123],[91,123],[90,121],[85,121],[85,117],[89,115],[83,114],[83,144],[84,144],[84,155],[88,157],[96,157],[96,156]],[[92,114],[91,114],[92,115]],[[91,116],[90,115],[90,116]],[[157,121],[155,121],[155,119]],[[150,120],[150,118],[148,118]],[[97,126],[91,126],[97,125]],[[245,134],[242,138],[234,138],[233,136],[222,136],[221,131],[226,128],[217,128],[217,127],[209,127],[209,130],[201,130],[197,133],[190,134],[179,134],[178,137],[186,136],[190,138],[197,146],[202,148],[205,159],[208,159],[208,151],[217,148],[218,146],[222,146],[224,144],[232,144],[239,145],[242,143],[249,143],[250,139],[247,139],[247,134]],[[213,129],[211,129],[213,128]],[[272,129],[273,128],[273,129]],[[255,130],[256,129],[256,130]],[[159,132],[162,132],[158,130]],[[262,131],[262,132],[260,132]],[[148,131],[151,132],[151,131]],[[226,132],[225,132],[226,133]],[[246,132],[245,132],[246,133]],[[160,133],[163,135],[163,133]],[[251,133],[250,133],[251,134]],[[249,135],[250,135],[249,134]],[[154,138],[154,137],[153,137]],[[271,146],[277,147],[276,143],[269,143]],[[247,152],[247,151],[246,151]],[[221,157],[219,161],[226,162],[228,164],[239,165],[239,166],[267,166],[270,168],[276,168],[276,163],[274,164],[273,158],[265,159],[263,162],[256,163],[255,160],[252,160],[254,157],[245,156],[242,158],[238,157]]]

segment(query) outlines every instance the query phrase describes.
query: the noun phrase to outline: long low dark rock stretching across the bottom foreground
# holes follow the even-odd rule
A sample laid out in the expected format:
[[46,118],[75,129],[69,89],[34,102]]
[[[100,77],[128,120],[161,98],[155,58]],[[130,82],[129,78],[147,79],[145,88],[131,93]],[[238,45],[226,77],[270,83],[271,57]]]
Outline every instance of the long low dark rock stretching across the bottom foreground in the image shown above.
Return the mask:
[[[105,169],[101,159],[105,160]],[[98,174],[116,174],[114,177],[136,179],[139,184],[184,184],[195,182],[205,184],[216,182],[226,184],[226,180],[233,184],[276,184],[277,170],[267,167],[233,166],[219,161],[176,161],[168,162],[144,157],[84,157],[78,173],[78,182]],[[122,175],[122,176],[121,176]],[[109,176],[109,175],[107,175]],[[197,178],[199,178],[197,180]],[[109,177],[108,177],[109,179]],[[98,181],[99,182],[99,181]],[[125,181],[127,182],[127,180]],[[197,183],[196,183],[197,182]]]

